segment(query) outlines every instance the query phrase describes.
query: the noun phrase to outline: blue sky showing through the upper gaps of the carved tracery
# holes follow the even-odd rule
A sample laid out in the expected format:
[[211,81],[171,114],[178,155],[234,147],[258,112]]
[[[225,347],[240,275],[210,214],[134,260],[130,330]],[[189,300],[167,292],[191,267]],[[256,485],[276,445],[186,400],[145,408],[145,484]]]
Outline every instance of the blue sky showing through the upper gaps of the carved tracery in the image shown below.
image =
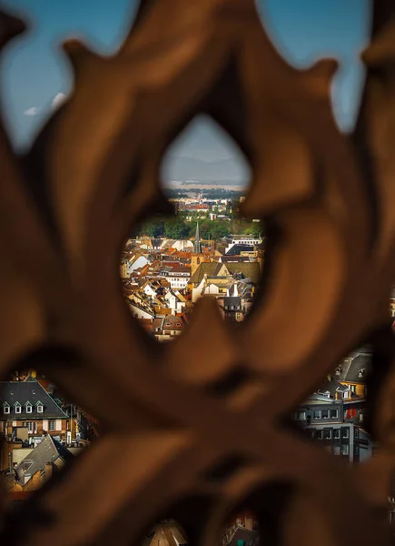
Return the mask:
[[[341,129],[350,129],[363,83],[359,55],[370,31],[369,0],[257,0],[257,4],[274,45],[291,64],[310,66],[322,56],[341,61],[332,89],[333,108]],[[67,37],[84,37],[96,51],[114,52],[133,19],[136,1],[0,0],[0,5],[28,15],[34,24],[7,47],[2,61],[5,122],[15,147],[21,149],[50,115],[54,96],[67,94],[73,86],[69,66],[56,46]],[[234,148],[211,123],[196,120],[172,154],[213,160],[234,156]]]

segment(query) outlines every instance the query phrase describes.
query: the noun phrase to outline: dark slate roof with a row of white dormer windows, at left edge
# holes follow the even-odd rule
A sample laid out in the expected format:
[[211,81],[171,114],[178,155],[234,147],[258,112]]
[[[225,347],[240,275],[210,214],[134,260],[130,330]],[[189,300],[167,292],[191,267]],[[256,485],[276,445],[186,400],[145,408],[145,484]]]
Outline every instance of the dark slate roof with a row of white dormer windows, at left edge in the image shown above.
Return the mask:
[[[10,413],[3,410],[5,402]],[[22,406],[21,413],[15,412],[15,402]],[[26,412],[26,404],[32,404],[32,413]],[[43,404],[43,412],[37,411],[36,403]],[[28,404],[27,404],[28,405]],[[35,379],[29,381],[0,381],[0,420],[68,419],[67,415]]]

